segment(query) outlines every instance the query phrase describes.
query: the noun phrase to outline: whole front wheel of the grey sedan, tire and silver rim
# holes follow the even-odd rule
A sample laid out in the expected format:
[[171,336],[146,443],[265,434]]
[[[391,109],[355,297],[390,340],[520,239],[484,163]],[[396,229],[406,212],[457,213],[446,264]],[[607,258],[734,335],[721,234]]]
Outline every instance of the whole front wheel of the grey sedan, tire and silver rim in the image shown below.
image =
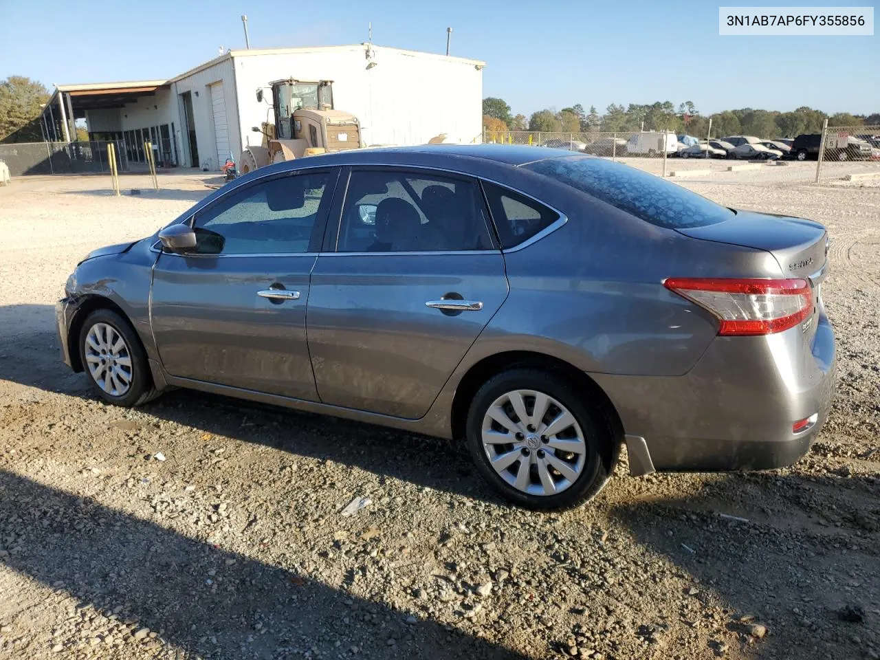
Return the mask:
[[138,406],[158,395],[134,328],[116,312],[92,312],[80,331],[79,348],[92,390],[107,403]]

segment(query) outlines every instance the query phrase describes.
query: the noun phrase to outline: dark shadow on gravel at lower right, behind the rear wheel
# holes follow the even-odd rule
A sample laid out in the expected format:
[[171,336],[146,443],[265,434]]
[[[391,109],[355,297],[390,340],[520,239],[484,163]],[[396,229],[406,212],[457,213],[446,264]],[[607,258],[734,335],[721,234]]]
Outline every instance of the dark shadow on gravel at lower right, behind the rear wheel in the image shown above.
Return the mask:
[[[718,475],[686,497],[612,504],[610,516],[692,583],[678,619],[717,640],[736,634],[744,655],[760,643],[760,657],[868,657],[880,643],[876,476]],[[841,620],[847,606],[865,619]],[[749,628],[756,623],[769,631],[761,642]]]

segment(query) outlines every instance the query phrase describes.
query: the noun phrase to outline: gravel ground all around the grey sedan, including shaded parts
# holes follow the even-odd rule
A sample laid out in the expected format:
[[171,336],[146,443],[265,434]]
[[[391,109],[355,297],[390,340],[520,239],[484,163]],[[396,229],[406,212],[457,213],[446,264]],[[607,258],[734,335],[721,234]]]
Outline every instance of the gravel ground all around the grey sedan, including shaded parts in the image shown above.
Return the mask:
[[880,187],[795,172],[682,185],[831,231],[839,388],[810,454],[620,465],[556,514],[499,502],[444,441],[194,392],[99,403],[57,355],[62,283],[205,178],[119,199],[105,177],[0,188],[0,659],[877,660]]

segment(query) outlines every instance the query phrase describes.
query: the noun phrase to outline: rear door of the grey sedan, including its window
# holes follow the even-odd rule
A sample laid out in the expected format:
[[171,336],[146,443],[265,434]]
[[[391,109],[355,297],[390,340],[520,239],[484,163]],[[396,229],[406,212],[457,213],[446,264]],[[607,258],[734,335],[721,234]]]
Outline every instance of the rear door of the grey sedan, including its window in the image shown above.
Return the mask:
[[431,170],[356,168],[340,206],[308,306],[320,399],[417,419],[507,297],[480,187]]

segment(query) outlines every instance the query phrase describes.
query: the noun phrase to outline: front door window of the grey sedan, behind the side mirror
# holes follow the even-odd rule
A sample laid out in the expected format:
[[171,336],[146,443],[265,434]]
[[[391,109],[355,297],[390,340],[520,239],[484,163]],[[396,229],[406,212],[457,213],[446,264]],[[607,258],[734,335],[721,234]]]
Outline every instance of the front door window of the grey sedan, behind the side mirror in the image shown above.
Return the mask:
[[334,177],[331,172],[288,175],[227,194],[195,215],[193,226],[199,237],[195,252],[308,252],[315,223],[326,212]]

